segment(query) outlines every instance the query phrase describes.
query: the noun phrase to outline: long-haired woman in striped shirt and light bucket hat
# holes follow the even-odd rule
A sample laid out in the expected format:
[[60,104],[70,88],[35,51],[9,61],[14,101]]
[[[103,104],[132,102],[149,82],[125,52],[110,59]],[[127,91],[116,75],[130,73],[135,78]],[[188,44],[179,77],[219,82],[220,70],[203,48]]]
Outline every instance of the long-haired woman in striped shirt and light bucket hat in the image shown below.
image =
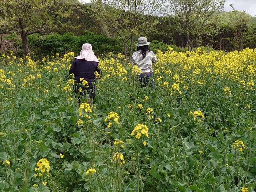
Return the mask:
[[138,65],[138,68],[141,70],[139,75],[139,82],[141,87],[146,87],[148,82],[151,81],[151,88],[154,88],[153,82],[153,68],[152,63],[157,61],[155,54],[148,48],[150,42],[147,41],[146,37],[138,38],[137,51],[132,54],[132,67]]

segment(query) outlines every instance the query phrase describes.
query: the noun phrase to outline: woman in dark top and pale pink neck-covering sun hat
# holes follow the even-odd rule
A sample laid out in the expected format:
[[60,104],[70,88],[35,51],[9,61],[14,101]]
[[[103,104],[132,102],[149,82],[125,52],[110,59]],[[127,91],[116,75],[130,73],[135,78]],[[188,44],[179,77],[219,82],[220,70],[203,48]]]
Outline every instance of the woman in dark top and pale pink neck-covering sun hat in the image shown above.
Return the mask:
[[101,74],[98,63],[99,60],[94,55],[91,44],[83,44],[80,55],[74,58],[73,64],[69,69],[69,74],[75,75],[75,85],[73,87],[74,92],[79,94],[79,102],[80,97],[86,94],[85,91],[87,91],[87,95],[91,99],[95,96],[95,72]]

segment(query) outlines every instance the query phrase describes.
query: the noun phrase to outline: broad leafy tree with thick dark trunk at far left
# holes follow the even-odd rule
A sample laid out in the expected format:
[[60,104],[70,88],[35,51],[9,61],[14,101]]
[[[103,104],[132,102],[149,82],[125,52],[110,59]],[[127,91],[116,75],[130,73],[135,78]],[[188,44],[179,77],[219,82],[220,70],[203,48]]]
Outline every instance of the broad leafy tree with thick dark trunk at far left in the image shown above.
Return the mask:
[[60,18],[70,11],[63,11],[65,4],[58,0],[1,0],[0,33],[16,31],[21,35],[24,54],[29,53],[27,36],[50,32],[61,25]]

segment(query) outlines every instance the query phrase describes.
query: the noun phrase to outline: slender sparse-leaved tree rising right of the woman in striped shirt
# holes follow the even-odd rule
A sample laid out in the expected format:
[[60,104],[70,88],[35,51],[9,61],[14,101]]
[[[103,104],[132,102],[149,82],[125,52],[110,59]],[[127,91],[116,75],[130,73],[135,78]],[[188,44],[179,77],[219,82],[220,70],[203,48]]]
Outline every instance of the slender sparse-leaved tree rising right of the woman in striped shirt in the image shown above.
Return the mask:
[[[188,50],[193,48],[191,35],[199,37],[202,42],[203,32],[207,29],[206,23],[217,11],[222,10],[226,0],[168,0],[174,14],[185,25]],[[182,28],[179,29],[182,32]],[[193,36],[192,36],[193,37]]]

